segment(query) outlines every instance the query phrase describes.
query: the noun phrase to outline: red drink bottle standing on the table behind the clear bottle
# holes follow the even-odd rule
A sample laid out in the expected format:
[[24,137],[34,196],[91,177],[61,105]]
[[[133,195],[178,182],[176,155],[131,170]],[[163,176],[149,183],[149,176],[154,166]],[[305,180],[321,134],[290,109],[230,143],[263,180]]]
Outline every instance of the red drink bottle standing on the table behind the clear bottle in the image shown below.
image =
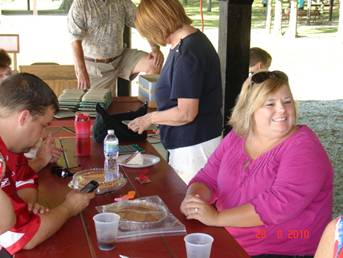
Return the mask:
[[91,153],[91,120],[88,114],[75,113],[76,155],[89,156]]

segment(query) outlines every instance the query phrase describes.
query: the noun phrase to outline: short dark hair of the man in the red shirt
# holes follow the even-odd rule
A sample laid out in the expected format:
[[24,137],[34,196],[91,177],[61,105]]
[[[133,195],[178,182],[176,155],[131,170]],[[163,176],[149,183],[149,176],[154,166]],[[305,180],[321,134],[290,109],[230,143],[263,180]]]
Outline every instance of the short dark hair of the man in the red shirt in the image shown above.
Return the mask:
[[32,116],[44,115],[48,107],[58,112],[58,100],[52,89],[39,77],[18,73],[0,83],[0,116],[25,109]]

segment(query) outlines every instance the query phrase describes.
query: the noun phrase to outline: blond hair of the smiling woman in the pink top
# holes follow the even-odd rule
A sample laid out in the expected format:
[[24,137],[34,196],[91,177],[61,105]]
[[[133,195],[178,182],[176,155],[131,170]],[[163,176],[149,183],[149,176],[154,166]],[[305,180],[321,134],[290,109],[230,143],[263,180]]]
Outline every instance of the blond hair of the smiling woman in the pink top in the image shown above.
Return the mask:
[[[259,82],[254,81],[254,77],[260,77]],[[283,86],[288,87],[291,92],[288,77],[281,71],[262,71],[249,77],[243,83],[241,93],[239,94],[236,105],[233,108],[229,125],[232,126],[237,134],[247,136],[253,124],[252,119],[254,112],[262,107],[270,94],[279,90]],[[296,110],[294,102],[293,105]]]

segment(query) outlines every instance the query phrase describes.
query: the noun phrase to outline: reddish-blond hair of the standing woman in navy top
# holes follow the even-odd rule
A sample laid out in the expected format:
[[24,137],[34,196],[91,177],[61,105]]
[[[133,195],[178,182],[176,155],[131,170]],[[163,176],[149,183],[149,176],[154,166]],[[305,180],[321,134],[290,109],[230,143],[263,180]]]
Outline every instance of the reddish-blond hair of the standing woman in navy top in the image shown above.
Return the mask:
[[179,0],[142,0],[137,8],[135,25],[149,41],[165,46],[170,34],[191,24]]

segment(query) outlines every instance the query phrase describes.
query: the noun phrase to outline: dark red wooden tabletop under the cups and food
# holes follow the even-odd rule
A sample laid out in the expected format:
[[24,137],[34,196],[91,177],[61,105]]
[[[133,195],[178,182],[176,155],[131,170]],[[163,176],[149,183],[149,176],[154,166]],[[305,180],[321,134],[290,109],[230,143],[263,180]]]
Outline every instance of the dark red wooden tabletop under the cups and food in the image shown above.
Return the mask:
[[[136,98],[115,98],[110,110],[112,113],[135,110],[142,103]],[[64,122],[63,122],[64,121]],[[72,125],[70,120],[54,121],[53,126]],[[58,133],[60,135],[60,132]],[[66,136],[68,134],[66,133]],[[70,136],[70,133],[69,133]],[[137,142],[136,142],[137,143]],[[125,143],[126,144],[126,143]],[[129,142],[127,142],[129,144]],[[147,141],[138,142],[144,148],[145,153],[159,156],[152,145]],[[168,209],[185,226],[187,233],[204,232],[213,236],[212,258],[248,258],[246,252],[230,236],[224,228],[208,227],[195,220],[187,220],[180,212],[180,203],[186,192],[185,183],[178,177],[165,160],[149,168],[144,172],[151,179],[148,184],[140,184],[134,178],[142,173],[143,169],[122,168],[128,183],[118,191],[97,195],[90,205],[78,216],[69,220],[54,236],[46,240],[33,250],[21,251],[16,258],[75,258],[75,257],[119,257],[125,255],[129,258],[185,258],[186,250],[184,235],[158,236],[149,239],[120,242],[112,251],[100,251],[97,248],[93,215],[96,213],[95,206],[113,202],[115,197],[127,193],[129,190],[136,191],[137,197],[158,195],[168,206]],[[91,155],[78,158],[81,168],[103,167],[102,145],[92,143]],[[67,186],[70,178],[59,178],[53,175],[49,168],[39,174],[40,201],[48,207],[55,207],[61,203],[69,191]]]

